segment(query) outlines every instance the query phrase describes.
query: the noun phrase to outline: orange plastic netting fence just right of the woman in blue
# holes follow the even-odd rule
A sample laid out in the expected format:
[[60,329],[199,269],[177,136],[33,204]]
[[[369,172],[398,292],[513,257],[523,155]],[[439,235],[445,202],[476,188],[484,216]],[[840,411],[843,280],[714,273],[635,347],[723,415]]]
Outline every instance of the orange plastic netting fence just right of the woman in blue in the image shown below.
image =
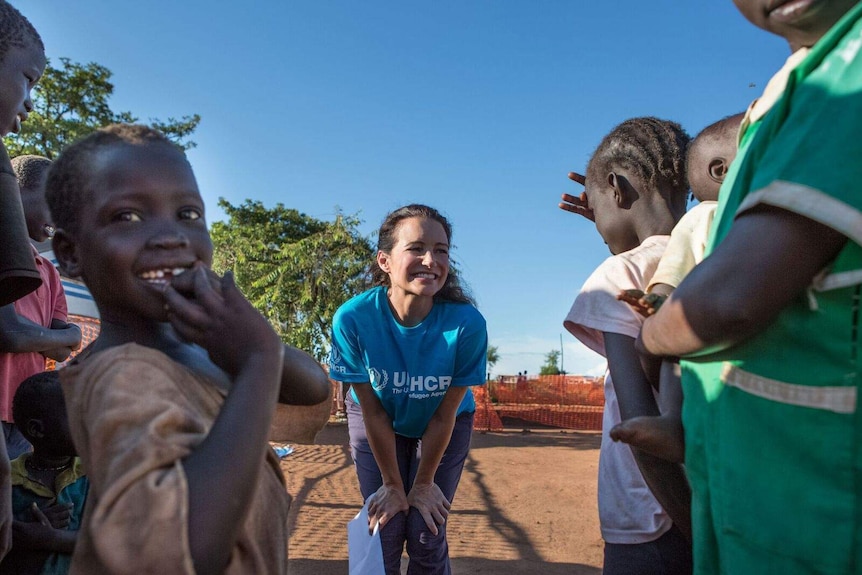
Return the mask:
[[473,394],[476,430],[500,431],[504,418],[564,429],[602,428],[605,398],[600,377],[508,376],[474,387]]

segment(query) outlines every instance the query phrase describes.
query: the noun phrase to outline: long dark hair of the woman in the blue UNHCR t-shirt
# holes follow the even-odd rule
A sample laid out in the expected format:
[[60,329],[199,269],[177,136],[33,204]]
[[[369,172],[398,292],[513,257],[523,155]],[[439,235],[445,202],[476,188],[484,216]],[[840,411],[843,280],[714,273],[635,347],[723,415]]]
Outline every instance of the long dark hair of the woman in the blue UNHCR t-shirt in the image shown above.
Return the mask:
[[[423,204],[410,204],[398,208],[390,212],[383,223],[380,224],[380,229],[377,231],[377,250],[386,254],[392,253],[392,248],[395,246],[397,239],[396,232],[402,220],[408,218],[427,218],[439,222],[443,226],[443,231],[446,232],[446,240],[452,244],[452,226],[449,224],[443,215],[432,207]],[[377,265],[377,260],[371,264],[371,285],[373,286],[389,286],[389,274],[380,269]],[[446,277],[446,283],[434,294],[434,301],[452,301],[458,303],[469,303],[475,305],[476,302],[461,286],[461,280],[458,277],[458,270],[454,265],[449,266],[449,275]]]

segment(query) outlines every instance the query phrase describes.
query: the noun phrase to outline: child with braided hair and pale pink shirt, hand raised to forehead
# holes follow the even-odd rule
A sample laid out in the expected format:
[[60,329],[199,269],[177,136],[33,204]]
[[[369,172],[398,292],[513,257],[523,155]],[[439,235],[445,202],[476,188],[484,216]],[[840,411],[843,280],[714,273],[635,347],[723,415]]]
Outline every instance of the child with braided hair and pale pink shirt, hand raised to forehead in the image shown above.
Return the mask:
[[616,296],[623,289],[646,288],[685,213],[688,141],[674,122],[650,117],[623,122],[599,144],[586,176],[570,176],[584,184],[584,193],[564,196],[561,205],[594,220],[613,254],[587,279],[564,322],[608,360],[598,488],[606,575],[691,572],[687,518],[665,511],[675,509],[680,493],[685,498],[681,466],[608,435],[624,419],[659,413],[651,385],[654,366],[643,366],[635,350],[644,318]]

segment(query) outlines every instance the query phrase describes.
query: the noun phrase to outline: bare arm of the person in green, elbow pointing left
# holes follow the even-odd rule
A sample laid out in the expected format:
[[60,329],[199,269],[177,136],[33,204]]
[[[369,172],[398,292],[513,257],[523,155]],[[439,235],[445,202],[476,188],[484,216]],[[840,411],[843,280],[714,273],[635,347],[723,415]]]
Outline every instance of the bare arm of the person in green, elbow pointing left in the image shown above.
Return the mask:
[[834,229],[781,208],[748,210],[646,320],[639,344],[680,356],[740,342],[768,326],[846,242]]

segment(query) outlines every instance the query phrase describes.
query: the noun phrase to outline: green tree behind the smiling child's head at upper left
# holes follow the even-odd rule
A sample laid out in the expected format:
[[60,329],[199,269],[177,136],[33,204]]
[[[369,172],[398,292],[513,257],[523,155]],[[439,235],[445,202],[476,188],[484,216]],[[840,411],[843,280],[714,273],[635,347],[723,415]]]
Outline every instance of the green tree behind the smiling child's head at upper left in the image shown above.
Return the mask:
[[[21,126],[21,133],[9,138],[6,147],[12,157],[37,154],[55,158],[68,144],[113,122],[137,122],[131,112],[114,112],[108,99],[114,93],[110,70],[91,62],[79,64],[60,58],[61,66],[50,62],[33,90],[33,112]],[[149,125],[161,130],[184,149],[195,143],[189,136],[200,116],[150,119]]]

